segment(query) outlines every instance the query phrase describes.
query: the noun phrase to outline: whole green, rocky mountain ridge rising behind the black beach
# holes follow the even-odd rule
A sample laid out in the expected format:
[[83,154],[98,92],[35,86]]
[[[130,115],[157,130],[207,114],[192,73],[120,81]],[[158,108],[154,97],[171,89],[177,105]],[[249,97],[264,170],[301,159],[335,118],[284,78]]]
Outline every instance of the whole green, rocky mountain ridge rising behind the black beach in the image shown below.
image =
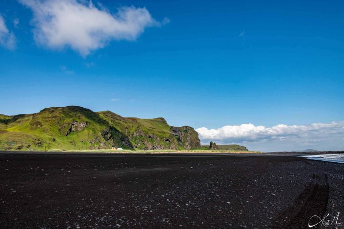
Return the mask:
[[30,115],[0,115],[0,150],[132,150],[200,148],[189,126],[172,127],[163,118],[125,118],[110,111],[68,106]]

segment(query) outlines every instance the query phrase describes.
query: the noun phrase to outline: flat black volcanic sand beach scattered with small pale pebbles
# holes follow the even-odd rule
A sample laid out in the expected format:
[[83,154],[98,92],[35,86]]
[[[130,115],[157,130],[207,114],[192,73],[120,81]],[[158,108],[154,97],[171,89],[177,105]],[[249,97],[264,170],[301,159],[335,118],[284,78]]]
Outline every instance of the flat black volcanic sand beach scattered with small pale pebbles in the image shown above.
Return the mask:
[[343,191],[292,155],[0,154],[1,228],[308,228]]

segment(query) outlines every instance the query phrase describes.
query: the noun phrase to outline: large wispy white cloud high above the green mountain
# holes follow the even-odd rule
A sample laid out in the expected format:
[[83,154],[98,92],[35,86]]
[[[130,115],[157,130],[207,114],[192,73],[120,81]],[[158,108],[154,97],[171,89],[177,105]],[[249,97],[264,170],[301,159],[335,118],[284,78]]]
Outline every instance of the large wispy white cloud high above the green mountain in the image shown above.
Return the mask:
[[71,47],[82,56],[112,39],[135,40],[146,27],[160,26],[146,8],[121,7],[116,14],[91,1],[20,0],[34,13],[34,36],[50,48]]

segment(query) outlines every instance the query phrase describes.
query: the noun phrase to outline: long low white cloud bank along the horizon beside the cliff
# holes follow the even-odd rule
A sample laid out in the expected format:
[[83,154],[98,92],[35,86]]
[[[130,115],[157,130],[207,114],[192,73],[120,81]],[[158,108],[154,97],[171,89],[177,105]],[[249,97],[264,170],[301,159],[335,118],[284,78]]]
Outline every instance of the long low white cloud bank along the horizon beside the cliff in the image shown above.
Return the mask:
[[242,124],[210,130],[202,127],[196,131],[203,143],[215,141],[220,144],[236,143],[259,147],[253,150],[299,150],[295,147],[344,150],[344,121],[299,126],[280,124],[273,127]]

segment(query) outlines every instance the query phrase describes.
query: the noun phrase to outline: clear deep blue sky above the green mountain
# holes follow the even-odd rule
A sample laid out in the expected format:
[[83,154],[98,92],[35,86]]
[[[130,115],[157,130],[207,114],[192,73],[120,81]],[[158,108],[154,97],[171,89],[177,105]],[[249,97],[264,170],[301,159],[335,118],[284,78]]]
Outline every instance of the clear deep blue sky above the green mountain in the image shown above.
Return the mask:
[[[134,28],[130,32],[97,27],[92,33],[101,40],[90,47],[84,30],[68,30],[68,23],[53,38],[42,32],[51,24],[37,8],[49,11],[54,1],[0,1],[7,29],[1,37],[0,26],[0,114],[79,105],[162,116],[170,125],[205,127],[204,142],[265,151],[321,148],[324,142],[290,140],[281,149],[271,136],[262,142],[208,132],[249,123],[268,128],[344,120],[343,1],[64,1],[113,16],[106,18],[109,24],[120,7],[146,11],[141,21],[125,24]],[[93,20],[80,23],[78,29],[87,30],[83,23]],[[343,127],[335,128],[338,136],[326,147],[344,149],[338,143]]]

